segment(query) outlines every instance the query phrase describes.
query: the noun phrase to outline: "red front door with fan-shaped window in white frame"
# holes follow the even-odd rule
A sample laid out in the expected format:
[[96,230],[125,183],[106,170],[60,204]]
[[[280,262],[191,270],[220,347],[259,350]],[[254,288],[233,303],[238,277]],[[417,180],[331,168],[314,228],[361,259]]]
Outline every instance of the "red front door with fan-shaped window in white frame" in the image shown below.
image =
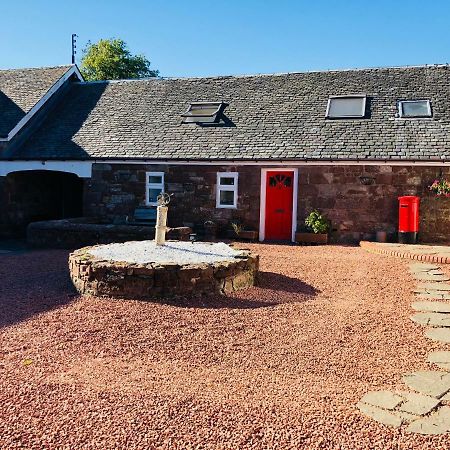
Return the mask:
[[266,177],[265,239],[291,240],[294,172],[270,171]]

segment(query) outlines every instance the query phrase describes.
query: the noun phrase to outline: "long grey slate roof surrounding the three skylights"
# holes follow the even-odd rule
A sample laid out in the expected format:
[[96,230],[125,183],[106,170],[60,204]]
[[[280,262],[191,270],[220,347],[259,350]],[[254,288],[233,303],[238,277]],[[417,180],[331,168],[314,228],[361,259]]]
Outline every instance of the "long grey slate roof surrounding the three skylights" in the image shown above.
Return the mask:
[[[447,65],[74,83],[15,158],[450,160]],[[367,94],[370,117],[325,119],[330,95]],[[432,119],[396,118],[430,99]],[[224,101],[225,126],[182,124],[191,101]]]

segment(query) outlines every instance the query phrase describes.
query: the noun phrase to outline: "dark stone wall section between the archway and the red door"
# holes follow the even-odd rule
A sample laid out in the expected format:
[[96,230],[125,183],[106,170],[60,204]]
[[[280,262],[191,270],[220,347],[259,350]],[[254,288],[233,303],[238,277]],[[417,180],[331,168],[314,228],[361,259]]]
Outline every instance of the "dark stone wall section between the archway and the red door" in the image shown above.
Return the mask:
[[[136,207],[145,205],[145,173],[164,172],[166,191],[174,194],[168,216],[170,227],[196,228],[217,223],[219,233],[231,221],[259,228],[260,171],[254,167],[94,164],[87,183],[85,215],[123,222]],[[216,208],[217,172],[239,172],[238,209]]]

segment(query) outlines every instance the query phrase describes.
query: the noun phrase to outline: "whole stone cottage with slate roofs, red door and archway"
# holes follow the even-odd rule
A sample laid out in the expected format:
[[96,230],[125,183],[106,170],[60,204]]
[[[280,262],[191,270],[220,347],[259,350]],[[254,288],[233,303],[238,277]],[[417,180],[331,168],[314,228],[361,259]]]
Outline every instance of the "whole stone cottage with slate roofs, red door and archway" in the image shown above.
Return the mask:
[[169,224],[294,238],[312,209],[352,242],[394,233],[419,195],[421,235],[448,240],[450,68],[85,82],[76,66],[0,71],[0,230],[124,223],[173,194]]

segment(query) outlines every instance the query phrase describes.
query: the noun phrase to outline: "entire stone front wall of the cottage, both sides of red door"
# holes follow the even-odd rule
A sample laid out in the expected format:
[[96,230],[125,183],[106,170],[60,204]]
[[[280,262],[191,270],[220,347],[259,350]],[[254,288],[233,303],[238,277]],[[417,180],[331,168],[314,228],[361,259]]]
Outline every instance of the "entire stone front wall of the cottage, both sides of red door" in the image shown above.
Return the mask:
[[[274,164],[273,167],[276,167]],[[219,232],[239,220],[259,229],[261,166],[212,165],[110,165],[95,164],[85,194],[86,215],[100,215],[124,221],[145,202],[145,172],[163,171],[166,190],[173,193],[169,209],[170,226],[194,227],[212,220]],[[215,207],[216,173],[239,172],[238,209]],[[373,239],[384,230],[395,237],[400,195],[422,198],[421,236],[429,242],[448,241],[450,215],[448,200],[430,196],[427,186],[448,167],[407,167],[387,165],[299,166],[298,224],[317,208],[331,219],[332,240],[357,242]]]

